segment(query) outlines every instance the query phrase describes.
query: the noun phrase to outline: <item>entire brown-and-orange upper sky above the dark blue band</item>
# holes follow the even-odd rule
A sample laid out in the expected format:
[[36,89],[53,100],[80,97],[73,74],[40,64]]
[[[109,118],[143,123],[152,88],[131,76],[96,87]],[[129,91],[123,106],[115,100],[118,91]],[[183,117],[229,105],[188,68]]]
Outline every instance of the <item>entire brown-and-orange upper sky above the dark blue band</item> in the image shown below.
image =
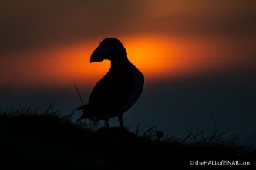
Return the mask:
[[106,37],[120,38],[148,82],[253,65],[249,0],[25,0],[0,4],[0,85],[93,85],[109,62],[89,63]]

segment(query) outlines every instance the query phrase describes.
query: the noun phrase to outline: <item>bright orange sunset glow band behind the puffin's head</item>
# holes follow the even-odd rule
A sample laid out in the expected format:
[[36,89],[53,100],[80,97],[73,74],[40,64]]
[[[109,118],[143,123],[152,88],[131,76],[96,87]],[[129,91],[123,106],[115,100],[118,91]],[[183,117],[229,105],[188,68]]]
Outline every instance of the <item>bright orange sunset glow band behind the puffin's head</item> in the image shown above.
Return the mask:
[[[143,35],[123,36],[120,40],[147,82],[219,72],[246,61],[239,58],[239,51],[245,49],[237,41],[224,38]],[[100,41],[8,54],[0,59],[2,84],[29,88],[75,83],[91,86],[109,69],[109,61],[89,63],[90,54]]]

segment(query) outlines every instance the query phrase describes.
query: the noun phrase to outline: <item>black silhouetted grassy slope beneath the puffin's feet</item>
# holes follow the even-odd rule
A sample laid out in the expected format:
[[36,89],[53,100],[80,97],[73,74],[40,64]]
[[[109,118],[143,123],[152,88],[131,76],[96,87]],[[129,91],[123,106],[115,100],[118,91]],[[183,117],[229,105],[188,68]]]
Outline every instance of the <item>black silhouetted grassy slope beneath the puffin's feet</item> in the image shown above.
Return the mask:
[[136,128],[135,132],[122,128],[93,131],[88,125],[72,122],[71,115],[61,116],[52,106],[45,112],[29,107],[0,112],[0,169],[202,168],[189,165],[191,160],[255,163],[254,148],[239,145],[237,136],[224,140],[224,133],[204,137],[196,131],[175,138],[163,136],[155,127]]

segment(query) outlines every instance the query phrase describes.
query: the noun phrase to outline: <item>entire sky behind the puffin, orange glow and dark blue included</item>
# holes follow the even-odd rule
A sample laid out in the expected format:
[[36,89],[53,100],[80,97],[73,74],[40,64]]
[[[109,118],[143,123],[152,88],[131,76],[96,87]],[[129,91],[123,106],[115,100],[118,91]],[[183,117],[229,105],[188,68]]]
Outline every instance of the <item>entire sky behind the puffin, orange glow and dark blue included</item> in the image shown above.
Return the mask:
[[214,117],[220,131],[248,138],[256,132],[255,3],[2,0],[0,108],[52,102],[71,112],[80,105],[73,85],[88,100],[110,66],[90,64],[91,52],[116,37],[146,80],[125,124],[183,136],[197,125],[211,132]]

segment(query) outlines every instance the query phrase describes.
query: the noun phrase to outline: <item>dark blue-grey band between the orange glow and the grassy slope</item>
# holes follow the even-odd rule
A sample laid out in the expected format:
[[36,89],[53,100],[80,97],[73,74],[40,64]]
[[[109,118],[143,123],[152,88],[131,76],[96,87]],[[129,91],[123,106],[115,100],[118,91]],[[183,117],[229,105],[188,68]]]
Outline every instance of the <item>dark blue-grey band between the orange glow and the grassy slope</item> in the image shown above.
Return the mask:
[[[218,132],[231,129],[227,137],[242,132],[241,141],[246,142],[256,132],[255,73],[226,72],[146,84],[139,101],[124,115],[124,123],[130,129],[136,125],[141,128],[157,125],[157,129],[177,137],[195,132],[198,125],[207,136],[214,132],[214,118]],[[79,88],[86,101],[89,92]],[[25,91],[6,87],[0,91],[0,99],[2,109],[19,108],[20,104],[43,111],[52,102],[62,114],[69,114],[81,105],[72,85]],[[74,118],[79,115],[76,111]],[[110,125],[118,125],[116,118]]]

